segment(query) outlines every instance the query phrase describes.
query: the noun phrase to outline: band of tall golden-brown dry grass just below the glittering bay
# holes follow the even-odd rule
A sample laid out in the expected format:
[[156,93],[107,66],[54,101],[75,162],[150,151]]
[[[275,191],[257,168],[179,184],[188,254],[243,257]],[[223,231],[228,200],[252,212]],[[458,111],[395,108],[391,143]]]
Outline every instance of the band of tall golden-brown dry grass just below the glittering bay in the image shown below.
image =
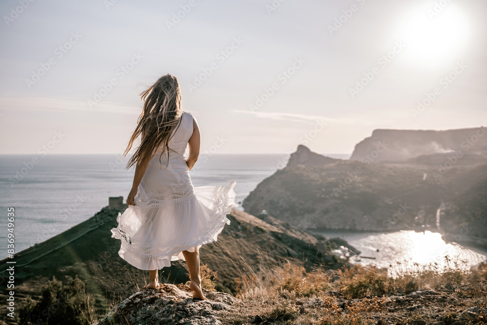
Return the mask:
[[[448,257],[447,257],[448,258]],[[454,262],[455,264],[458,262]],[[461,268],[442,269],[427,267],[422,271],[403,273],[390,277],[386,269],[374,266],[356,265],[334,271],[332,276],[319,269],[306,272],[301,266],[286,263],[282,268],[254,271],[246,265],[247,271],[241,273],[236,281],[236,292],[240,298],[267,295],[274,292],[283,297],[311,297],[320,292],[336,290],[348,299],[372,298],[384,295],[408,294],[417,290],[446,288],[454,290],[461,283],[475,283],[487,280],[487,266],[482,265],[478,272],[466,272]]]

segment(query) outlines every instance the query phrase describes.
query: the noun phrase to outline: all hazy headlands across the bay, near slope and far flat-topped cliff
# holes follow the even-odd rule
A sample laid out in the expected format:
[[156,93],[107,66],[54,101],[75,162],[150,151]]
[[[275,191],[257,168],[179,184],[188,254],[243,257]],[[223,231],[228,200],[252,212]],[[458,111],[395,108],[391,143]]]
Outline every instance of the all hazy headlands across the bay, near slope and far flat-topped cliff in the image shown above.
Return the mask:
[[243,202],[303,228],[440,229],[485,244],[487,130],[375,130],[350,160],[300,145]]

